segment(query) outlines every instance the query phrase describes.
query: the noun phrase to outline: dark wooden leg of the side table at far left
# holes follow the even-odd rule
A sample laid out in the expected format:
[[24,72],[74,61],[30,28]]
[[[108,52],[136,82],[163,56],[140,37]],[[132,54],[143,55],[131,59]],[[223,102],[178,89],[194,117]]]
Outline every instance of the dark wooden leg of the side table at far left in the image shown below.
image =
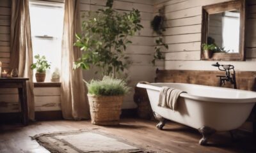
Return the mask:
[[22,88],[19,88],[19,99],[22,113],[22,123],[26,126],[28,125],[28,98],[26,82],[23,82]]

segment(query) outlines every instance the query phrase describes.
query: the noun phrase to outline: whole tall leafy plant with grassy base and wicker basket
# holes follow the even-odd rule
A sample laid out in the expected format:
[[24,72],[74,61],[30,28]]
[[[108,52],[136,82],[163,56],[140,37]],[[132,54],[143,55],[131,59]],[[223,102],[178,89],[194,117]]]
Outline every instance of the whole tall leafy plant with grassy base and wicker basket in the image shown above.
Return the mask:
[[82,33],[76,34],[74,43],[83,54],[74,63],[74,69],[100,69],[103,79],[87,83],[92,124],[113,126],[119,123],[122,101],[128,91],[124,80],[118,79],[131,64],[124,52],[132,43],[129,36],[143,26],[140,11],[119,13],[112,8],[113,0],[108,0],[106,6],[84,16]]

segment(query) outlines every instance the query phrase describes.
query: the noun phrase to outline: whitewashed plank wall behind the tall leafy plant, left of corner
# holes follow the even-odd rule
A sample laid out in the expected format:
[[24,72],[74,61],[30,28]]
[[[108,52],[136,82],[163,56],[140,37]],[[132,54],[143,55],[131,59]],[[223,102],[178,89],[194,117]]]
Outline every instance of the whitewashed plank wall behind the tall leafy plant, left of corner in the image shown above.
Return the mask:
[[[81,0],[81,15],[87,11],[96,11],[99,8],[104,8],[106,0]],[[150,21],[153,17],[153,1],[152,0],[115,0],[113,8],[120,12],[131,11],[132,8],[138,9],[141,12],[141,24],[144,29],[140,33],[136,33],[136,36],[131,38],[132,45],[127,48],[126,54],[129,55],[132,66],[127,71],[129,75],[129,85],[134,89],[141,80],[148,82],[154,81],[155,71],[151,64],[152,53],[154,52],[154,39],[152,38],[152,29],[150,28]],[[83,20],[83,19],[82,19]],[[163,62],[162,62],[163,64]],[[161,62],[157,62],[157,67],[163,68]],[[90,74],[91,73],[91,74]],[[84,73],[86,80],[95,78],[92,75],[92,71]],[[88,77],[90,76],[90,77]],[[125,96],[124,104],[122,108],[136,108],[136,104],[133,102],[134,91]]]

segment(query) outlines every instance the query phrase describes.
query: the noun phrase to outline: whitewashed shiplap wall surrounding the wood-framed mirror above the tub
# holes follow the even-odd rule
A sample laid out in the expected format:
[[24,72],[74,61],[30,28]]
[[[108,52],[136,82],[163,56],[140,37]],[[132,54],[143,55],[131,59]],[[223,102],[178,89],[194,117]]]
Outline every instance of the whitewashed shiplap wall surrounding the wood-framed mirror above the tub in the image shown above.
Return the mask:
[[[200,61],[202,6],[228,0],[156,0],[154,14],[164,6],[166,17],[164,69],[218,70],[214,61]],[[256,1],[248,0],[246,61],[221,61],[239,71],[256,71]],[[216,62],[216,61],[215,61]]]

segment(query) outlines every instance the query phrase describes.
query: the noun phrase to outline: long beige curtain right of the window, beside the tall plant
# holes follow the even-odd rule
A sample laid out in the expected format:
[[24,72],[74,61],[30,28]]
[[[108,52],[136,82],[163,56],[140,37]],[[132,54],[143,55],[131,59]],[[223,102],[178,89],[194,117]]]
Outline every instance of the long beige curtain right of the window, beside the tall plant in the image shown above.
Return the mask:
[[61,52],[61,110],[64,119],[88,119],[88,98],[84,89],[81,69],[74,71],[72,64],[81,56],[74,47],[75,34],[81,33],[79,0],[66,0]]

